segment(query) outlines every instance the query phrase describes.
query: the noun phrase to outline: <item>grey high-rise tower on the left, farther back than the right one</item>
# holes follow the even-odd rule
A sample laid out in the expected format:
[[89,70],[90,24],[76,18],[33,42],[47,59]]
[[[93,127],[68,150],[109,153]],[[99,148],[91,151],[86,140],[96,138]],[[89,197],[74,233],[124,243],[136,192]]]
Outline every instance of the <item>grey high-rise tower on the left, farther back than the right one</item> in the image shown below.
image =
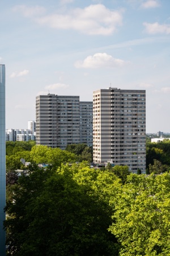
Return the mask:
[[80,105],[79,96],[37,96],[36,144],[65,149],[80,143]]

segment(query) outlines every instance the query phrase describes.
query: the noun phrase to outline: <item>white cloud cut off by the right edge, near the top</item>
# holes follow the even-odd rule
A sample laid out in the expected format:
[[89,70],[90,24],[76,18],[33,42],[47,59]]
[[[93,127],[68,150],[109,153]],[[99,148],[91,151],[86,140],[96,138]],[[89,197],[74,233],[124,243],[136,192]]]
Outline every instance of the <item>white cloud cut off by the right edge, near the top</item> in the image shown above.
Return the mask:
[[148,34],[170,34],[170,24],[160,25],[158,22],[155,23],[143,23],[145,30]]

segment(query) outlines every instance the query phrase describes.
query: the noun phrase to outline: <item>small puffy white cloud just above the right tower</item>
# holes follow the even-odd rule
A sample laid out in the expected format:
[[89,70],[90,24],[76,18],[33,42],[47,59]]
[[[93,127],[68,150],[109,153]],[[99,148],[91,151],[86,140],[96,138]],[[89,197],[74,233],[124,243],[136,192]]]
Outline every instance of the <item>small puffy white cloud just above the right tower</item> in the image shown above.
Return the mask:
[[87,56],[83,61],[76,61],[76,68],[115,68],[122,67],[126,62],[120,59],[114,59],[107,53],[95,53],[93,56]]

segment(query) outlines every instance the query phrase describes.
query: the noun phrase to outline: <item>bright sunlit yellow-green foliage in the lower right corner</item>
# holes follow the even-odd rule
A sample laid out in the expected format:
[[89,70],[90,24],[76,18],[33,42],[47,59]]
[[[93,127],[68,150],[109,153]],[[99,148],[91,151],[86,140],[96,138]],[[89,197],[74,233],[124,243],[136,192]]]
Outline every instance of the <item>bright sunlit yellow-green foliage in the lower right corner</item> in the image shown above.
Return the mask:
[[110,231],[121,243],[120,256],[169,255],[170,176],[128,176],[111,200],[116,209]]

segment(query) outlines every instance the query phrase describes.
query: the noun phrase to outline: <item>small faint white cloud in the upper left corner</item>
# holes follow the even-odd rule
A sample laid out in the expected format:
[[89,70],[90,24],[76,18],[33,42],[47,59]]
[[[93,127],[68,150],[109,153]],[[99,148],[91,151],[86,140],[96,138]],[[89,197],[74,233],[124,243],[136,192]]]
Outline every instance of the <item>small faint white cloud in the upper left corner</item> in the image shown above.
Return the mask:
[[45,8],[42,6],[28,7],[25,5],[17,5],[13,8],[13,11],[22,13],[25,17],[31,17],[35,15],[42,15],[45,13]]

